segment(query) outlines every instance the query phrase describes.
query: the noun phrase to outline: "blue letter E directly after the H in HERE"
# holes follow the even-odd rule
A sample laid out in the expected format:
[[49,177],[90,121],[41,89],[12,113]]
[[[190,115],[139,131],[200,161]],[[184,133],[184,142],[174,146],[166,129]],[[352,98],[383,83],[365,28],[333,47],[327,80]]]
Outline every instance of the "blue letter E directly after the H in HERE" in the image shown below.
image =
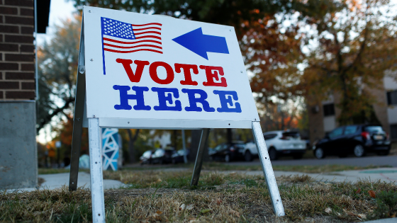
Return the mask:
[[[159,105],[153,107],[155,110],[182,110],[179,100],[175,100],[175,106],[167,105],[167,101],[172,105],[172,95],[174,95],[174,98],[179,98],[178,88],[152,88],[152,91],[157,92],[159,96]],[[167,93],[167,96],[165,96],[165,93]]]

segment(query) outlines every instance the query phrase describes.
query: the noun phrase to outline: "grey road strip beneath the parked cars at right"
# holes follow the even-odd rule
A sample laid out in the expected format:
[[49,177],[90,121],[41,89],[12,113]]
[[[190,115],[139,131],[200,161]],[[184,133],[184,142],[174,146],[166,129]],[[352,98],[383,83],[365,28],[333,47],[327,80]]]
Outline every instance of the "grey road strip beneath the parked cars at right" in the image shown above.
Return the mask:
[[[260,165],[259,159],[255,159],[252,162],[230,162],[230,165]],[[306,166],[317,166],[317,165],[325,165],[325,164],[342,164],[349,166],[393,166],[397,167],[397,156],[367,156],[367,157],[347,157],[347,158],[338,158],[332,157],[327,159],[281,159],[272,161],[272,165],[274,166],[297,166],[297,165],[306,165]]]

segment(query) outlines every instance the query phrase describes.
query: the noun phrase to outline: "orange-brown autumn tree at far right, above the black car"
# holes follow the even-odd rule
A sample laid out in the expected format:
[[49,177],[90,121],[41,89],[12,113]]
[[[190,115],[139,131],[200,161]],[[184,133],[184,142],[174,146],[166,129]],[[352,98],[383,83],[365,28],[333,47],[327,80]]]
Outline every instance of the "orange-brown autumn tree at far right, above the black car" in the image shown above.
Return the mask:
[[[308,97],[323,101],[340,96],[340,125],[379,122],[369,89],[379,88],[385,72],[396,70],[396,17],[387,0],[345,1],[317,26],[317,47],[308,55]],[[312,44],[315,45],[315,44]]]

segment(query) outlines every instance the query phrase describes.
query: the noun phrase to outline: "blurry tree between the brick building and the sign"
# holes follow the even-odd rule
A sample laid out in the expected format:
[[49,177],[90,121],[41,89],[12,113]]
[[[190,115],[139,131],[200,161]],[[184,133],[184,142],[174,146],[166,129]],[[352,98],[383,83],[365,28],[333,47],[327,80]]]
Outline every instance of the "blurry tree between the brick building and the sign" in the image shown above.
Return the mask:
[[71,119],[67,113],[75,97],[80,26],[78,16],[63,21],[55,26],[54,38],[38,49],[37,131],[55,117]]

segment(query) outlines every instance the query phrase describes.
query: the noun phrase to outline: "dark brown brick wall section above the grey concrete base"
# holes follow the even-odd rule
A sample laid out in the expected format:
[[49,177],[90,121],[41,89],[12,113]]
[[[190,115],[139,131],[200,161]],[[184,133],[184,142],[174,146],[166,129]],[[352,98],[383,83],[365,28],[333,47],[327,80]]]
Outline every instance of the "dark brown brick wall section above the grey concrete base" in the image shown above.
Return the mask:
[[35,98],[33,0],[0,0],[0,101]]

